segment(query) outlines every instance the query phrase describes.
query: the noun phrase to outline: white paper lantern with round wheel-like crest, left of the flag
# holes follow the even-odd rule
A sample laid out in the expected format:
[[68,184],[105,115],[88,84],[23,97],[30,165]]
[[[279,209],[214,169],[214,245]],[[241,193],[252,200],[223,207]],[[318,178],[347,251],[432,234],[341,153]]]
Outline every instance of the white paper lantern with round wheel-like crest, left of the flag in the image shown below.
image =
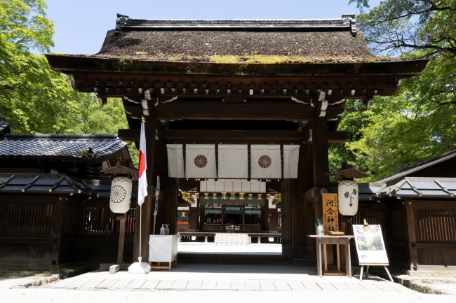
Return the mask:
[[112,179],[109,208],[113,213],[126,213],[130,209],[133,183],[127,177]]

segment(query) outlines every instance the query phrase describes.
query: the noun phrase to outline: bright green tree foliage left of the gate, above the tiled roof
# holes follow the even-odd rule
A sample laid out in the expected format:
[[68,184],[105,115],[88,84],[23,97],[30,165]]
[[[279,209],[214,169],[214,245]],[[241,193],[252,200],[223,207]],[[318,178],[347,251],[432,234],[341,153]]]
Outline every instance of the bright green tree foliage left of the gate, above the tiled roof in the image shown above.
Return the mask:
[[[13,133],[116,134],[128,128],[119,99],[100,108],[51,71],[43,52],[54,45],[43,0],[0,0],[0,114]],[[130,144],[134,163],[138,151]]]

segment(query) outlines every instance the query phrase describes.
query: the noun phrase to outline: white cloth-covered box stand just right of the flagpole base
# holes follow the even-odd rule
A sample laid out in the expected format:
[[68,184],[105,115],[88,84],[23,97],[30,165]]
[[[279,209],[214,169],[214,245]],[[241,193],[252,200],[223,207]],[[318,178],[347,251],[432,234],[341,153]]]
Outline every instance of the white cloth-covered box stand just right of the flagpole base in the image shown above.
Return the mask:
[[149,237],[149,261],[173,262],[177,259],[177,234],[166,236],[150,235]]

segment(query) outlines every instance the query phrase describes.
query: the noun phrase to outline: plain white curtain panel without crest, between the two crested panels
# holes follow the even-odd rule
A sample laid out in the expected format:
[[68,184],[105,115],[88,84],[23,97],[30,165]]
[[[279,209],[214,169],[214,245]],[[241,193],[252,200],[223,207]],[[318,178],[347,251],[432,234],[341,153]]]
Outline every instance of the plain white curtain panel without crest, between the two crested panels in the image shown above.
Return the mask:
[[248,151],[246,144],[218,146],[218,177],[248,178]]

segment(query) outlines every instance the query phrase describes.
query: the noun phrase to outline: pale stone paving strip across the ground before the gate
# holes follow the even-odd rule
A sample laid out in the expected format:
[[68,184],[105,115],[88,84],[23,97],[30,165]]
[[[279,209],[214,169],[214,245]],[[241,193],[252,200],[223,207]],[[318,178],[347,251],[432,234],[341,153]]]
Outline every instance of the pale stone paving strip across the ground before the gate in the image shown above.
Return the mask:
[[413,292],[377,277],[359,282],[348,276],[315,275],[312,267],[292,265],[178,265],[173,271],[109,274],[95,271],[51,284],[64,289],[125,290],[300,290],[377,293]]

